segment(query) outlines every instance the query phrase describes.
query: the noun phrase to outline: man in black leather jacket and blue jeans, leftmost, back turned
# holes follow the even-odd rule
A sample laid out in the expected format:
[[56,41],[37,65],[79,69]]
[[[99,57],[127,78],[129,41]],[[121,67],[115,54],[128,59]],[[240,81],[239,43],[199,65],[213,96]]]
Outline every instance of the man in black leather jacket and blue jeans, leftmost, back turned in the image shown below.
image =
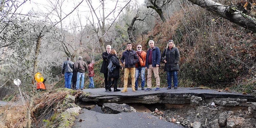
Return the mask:
[[71,88],[71,78],[73,76],[73,70],[75,70],[74,62],[70,61],[70,58],[67,57],[67,60],[62,64],[62,75],[65,79],[65,88]]

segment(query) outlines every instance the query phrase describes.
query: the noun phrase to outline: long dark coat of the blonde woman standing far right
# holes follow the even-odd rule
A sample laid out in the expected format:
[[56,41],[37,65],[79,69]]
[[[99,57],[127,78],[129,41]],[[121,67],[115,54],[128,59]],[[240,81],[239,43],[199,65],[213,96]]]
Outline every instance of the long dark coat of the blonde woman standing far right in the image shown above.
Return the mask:
[[179,71],[180,52],[178,48],[166,48],[162,53],[162,61],[166,60],[164,71]]

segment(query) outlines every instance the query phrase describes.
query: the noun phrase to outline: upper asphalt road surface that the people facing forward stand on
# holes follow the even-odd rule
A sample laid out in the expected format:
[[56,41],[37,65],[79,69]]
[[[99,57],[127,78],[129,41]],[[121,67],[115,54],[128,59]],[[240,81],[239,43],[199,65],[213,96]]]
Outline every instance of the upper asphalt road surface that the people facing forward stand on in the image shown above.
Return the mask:
[[[105,92],[105,88],[90,88],[84,89],[84,92],[90,92],[91,98],[99,97],[99,96],[121,96],[121,97],[137,97],[141,95],[148,95],[148,94],[158,94],[158,93],[170,93],[170,94],[191,94],[195,96],[202,96],[202,97],[219,97],[219,98],[245,98],[245,99],[255,99],[254,96],[243,95],[242,93],[238,92],[230,92],[230,91],[219,91],[214,89],[200,89],[198,87],[178,87],[178,89],[169,89],[167,90],[166,87],[161,88],[159,91],[155,91],[156,88],[152,88],[152,91],[145,91],[138,88],[137,91],[133,92],[131,87],[127,88],[127,92],[122,93],[113,92],[113,88],[111,88],[111,92]],[[119,88],[123,89],[123,88]],[[146,89],[146,87],[145,87]]]

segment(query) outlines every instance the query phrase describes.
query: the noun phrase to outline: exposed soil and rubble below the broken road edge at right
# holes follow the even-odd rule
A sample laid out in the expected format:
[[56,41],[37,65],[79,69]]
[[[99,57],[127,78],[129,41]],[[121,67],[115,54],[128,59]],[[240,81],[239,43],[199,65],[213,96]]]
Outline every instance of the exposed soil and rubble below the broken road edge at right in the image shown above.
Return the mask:
[[[139,112],[152,112],[162,120],[179,123],[186,128],[255,128],[256,119],[249,115],[248,107],[203,106],[191,107],[190,104],[158,104],[133,106]],[[171,109],[166,109],[166,108]],[[158,109],[156,112],[155,110]],[[234,123],[234,125],[233,125]]]

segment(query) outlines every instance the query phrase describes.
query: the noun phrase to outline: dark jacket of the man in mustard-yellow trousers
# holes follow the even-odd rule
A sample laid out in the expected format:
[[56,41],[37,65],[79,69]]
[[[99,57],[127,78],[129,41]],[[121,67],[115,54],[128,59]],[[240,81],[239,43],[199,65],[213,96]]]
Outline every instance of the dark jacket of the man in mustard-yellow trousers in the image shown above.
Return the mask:
[[125,62],[125,68],[135,67],[135,64],[139,62],[139,57],[137,56],[137,53],[134,50],[132,50],[129,54],[127,51],[128,50],[123,52],[121,62],[122,64],[123,62]]

